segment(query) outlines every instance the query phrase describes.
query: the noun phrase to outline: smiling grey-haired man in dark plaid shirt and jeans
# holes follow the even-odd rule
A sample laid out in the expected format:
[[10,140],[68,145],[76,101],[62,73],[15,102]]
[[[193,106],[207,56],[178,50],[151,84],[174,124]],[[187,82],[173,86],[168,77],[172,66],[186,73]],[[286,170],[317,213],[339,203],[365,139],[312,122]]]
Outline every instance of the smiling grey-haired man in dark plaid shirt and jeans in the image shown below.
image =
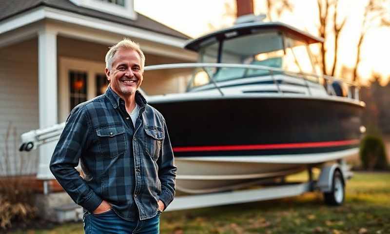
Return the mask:
[[71,111],[52,156],[53,175],[84,208],[86,234],[159,233],[159,216],[174,199],[164,117],[137,91],[144,64],[137,43],[124,39],[111,47],[109,87]]

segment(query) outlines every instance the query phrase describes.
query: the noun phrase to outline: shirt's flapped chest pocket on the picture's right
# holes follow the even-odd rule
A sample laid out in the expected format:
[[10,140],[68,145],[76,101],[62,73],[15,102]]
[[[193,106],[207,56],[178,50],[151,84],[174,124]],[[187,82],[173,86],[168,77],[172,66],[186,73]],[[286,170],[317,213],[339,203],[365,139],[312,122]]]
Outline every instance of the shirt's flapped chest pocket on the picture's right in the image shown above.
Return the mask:
[[145,151],[146,153],[157,160],[160,154],[164,133],[158,127],[145,126]]

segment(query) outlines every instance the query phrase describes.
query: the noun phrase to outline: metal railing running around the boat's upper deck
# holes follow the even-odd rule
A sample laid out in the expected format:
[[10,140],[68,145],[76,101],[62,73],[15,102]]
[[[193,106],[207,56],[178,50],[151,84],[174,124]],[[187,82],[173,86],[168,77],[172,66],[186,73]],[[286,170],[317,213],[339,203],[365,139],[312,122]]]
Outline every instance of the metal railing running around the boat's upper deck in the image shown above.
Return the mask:
[[[262,66],[262,65],[252,65],[252,64],[234,64],[234,63],[172,63],[172,64],[161,64],[161,65],[150,65],[146,66],[144,68],[145,71],[153,71],[153,70],[162,70],[162,69],[178,69],[178,68],[204,68],[211,67],[211,68],[244,68],[244,69],[257,69],[257,70],[265,70],[268,71],[271,78],[273,79],[273,82],[276,85],[277,92],[280,94],[283,94],[283,91],[280,87],[280,83],[275,78],[275,74],[284,74],[287,76],[302,78],[305,82],[305,86],[308,89],[308,95],[312,95],[310,83],[315,82],[318,84],[322,84],[327,91],[328,95],[330,96],[342,96],[334,89],[333,84],[339,85],[341,88],[344,85],[347,85],[347,98],[359,100],[359,90],[360,85],[357,82],[353,81],[347,81],[341,78],[335,78],[327,75],[317,75],[317,74],[311,74],[311,73],[304,73],[304,72],[291,72],[286,71],[281,68],[276,67],[268,67],[268,66]],[[218,86],[218,82],[210,75],[208,75],[210,78],[211,83],[215,86],[215,88],[219,91],[219,93],[224,96],[224,93],[222,92],[221,88]],[[309,78],[314,78],[315,81]],[[344,97],[344,96],[343,96]]]

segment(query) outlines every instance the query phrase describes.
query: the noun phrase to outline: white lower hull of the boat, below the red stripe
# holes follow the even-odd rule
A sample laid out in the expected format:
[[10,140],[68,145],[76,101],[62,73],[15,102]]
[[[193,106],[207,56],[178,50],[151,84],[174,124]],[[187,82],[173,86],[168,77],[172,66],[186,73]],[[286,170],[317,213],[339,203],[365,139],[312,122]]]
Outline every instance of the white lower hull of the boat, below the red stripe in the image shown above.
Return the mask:
[[318,165],[358,153],[357,148],[328,153],[273,156],[177,157],[177,190],[214,193],[267,183]]

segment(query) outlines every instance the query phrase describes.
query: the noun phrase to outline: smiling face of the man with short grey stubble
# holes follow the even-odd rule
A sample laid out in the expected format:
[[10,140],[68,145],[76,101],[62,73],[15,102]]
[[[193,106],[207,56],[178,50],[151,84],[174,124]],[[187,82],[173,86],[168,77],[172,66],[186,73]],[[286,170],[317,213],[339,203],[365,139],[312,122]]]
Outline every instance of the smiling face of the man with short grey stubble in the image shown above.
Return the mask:
[[106,76],[119,96],[134,94],[143,80],[141,58],[137,51],[119,49],[114,55],[111,71],[106,68]]

